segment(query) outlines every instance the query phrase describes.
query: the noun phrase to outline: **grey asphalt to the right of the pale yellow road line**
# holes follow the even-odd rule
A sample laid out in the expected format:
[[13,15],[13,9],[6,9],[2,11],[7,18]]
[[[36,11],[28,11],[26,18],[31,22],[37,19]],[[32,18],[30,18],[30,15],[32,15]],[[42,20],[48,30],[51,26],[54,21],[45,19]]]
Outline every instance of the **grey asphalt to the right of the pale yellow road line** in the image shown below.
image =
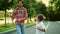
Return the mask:
[[46,34],[60,34],[60,22],[51,22]]

